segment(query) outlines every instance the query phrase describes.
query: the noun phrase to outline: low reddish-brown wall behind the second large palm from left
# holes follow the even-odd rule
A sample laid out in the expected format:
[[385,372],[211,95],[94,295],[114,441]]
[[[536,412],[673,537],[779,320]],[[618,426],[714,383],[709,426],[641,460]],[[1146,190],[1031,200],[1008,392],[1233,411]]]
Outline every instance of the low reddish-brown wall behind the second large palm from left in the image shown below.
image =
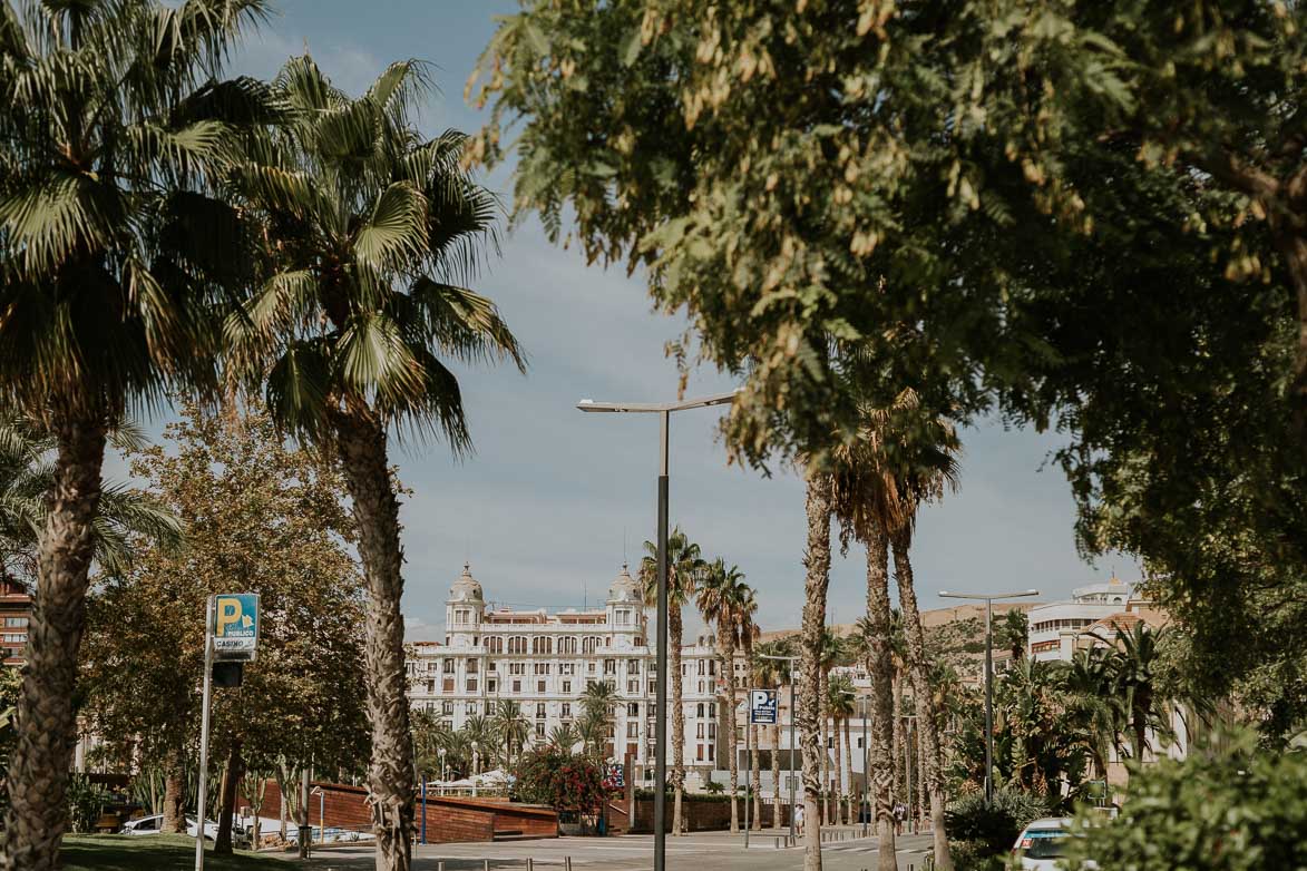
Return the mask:
[[[323,790],[323,798],[310,797],[308,820],[312,825],[320,824],[319,815],[322,814],[327,828],[339,827],[359,832],[372,828],[366,787],[314,782],[311,789],[316,787]],[[421,833],[421,799],[414,803],[414,831]],[[271,819],[281,815],[281,790],[277,789],[276,781],[268,781],[264,804],[259,814]],[[426,840],[429,844],[493,841],[497,833],[501,837],[557,837],[558,815],[548,807],[516,804],[502,798],[457,798],[427,793]]]

